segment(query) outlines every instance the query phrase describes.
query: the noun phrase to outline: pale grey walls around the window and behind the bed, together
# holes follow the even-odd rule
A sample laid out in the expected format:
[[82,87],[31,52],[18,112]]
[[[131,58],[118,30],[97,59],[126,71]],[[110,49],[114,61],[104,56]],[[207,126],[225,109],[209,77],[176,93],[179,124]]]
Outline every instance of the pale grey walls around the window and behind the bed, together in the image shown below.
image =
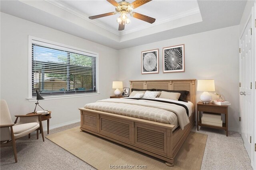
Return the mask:
[[[116,51],[30,21],[1,13],[1,99],[8,102],[12,118],[34,110],[28,102],[28,35],[99,53],[100,95],[59,100],[42,100],[40,105],[52,111],[50,126],[80,119],[78,107],[113,95],[112,81],[159,79],[215,80],[216,92],[224,94],[229,107],[229,128],[239,129],[239,26],[197,33]],[[185,44],[185,72],[162,73],[162,48]],[[141,74],[141,51],[159,48],[159,74]],[[119,65],[119,67],[117,67]],[[107,71],[106,71],[107,70]],[[117,75],[118,72],[118,75]],[[201,92],[196,93],[199,101]],[[212,96],[214,94],[212,93]],[[44,127],[46,124],[44,122]]]

